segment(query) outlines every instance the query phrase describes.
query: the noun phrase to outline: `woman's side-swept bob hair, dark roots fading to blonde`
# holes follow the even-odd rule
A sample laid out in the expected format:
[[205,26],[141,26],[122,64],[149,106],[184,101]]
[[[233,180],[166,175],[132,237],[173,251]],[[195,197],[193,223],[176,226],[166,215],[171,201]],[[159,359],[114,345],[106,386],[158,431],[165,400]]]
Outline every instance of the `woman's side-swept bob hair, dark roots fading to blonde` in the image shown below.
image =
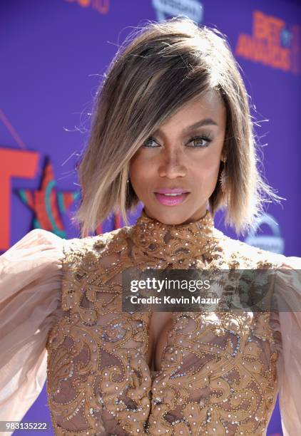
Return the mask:
[[88,145],[78,162],[82,195],[73,221],[82,237],[112,212],[128,225],[126,214],[140,201],[127,182],[131,157],[167,118],[208,90],[218,92],[227,116],[226,163],[220,162],[225,189],[219,175],[210,212],[226,209],[225,223],[239,234],[252,228],[268,197],[280,199],[257,169],[248,94],[225,36],[186,18],[148,21],[118,49],[96,93]]

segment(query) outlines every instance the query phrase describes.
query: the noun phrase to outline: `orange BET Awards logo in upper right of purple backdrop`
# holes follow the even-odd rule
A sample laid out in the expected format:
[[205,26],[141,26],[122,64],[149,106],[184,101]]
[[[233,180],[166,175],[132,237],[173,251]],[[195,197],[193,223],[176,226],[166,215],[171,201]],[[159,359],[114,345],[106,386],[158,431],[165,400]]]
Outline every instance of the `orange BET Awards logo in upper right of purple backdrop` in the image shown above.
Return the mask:
[[252,35],[240,33],[236,56],[282,71],[300,73],[301,27],[276,16],[253,12]]

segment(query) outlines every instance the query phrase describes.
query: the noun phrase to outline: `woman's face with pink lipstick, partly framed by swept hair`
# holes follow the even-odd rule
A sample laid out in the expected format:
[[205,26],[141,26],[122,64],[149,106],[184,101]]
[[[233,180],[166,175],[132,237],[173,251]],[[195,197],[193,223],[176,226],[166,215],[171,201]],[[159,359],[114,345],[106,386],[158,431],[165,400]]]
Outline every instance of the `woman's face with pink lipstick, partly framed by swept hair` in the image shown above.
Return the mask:
[[218,180],[225,124],[223,100],[210,90],[178,110],[141,145],[131,159],[130,177],[148,217],[184,224],[205,215]]

